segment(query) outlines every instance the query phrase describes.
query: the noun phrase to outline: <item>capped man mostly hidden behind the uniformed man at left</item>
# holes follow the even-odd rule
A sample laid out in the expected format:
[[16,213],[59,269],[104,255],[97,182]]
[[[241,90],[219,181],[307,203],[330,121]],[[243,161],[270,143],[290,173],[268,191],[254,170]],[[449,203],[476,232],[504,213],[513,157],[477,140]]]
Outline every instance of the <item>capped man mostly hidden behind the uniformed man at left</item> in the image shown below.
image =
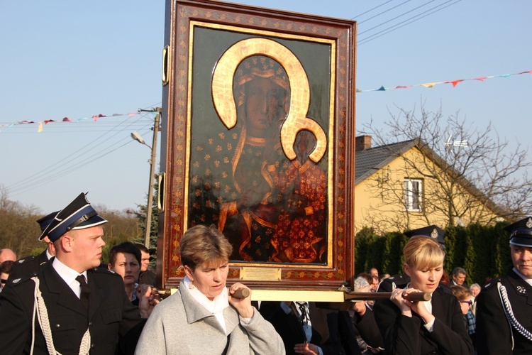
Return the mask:
[[[57,216],[59,211],[52,212],[47,216],[37,220],[37,223],[40,226],[40,232],[42,233],[46,227],[52,223],[52,220]],[[36,273],[37,271],[42,270],[48,260],[55,256],[54,244],[48,239],[48,236],[39,238],[39,240],[45,241],[47,248],[45,251],[40,253],[38,256],[26,256],[26,258],[21,258],[13,264],[11,268],[11,273],[9,273],[9,281],[15,280],[16,278],[21,278],[23,275],[28,275],[31,273]]]

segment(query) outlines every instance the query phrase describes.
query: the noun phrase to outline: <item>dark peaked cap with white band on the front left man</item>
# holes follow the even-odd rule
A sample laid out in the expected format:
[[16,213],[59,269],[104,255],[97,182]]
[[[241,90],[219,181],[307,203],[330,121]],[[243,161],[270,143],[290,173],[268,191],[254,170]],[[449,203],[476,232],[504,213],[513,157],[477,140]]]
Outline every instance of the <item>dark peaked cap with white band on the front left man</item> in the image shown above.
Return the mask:
[[50,241],[56,241],[67,231],[85,229],[106,223],[106,219],[99,216],[98,212],[87,200],[83,192],[76,199],[62,209],[52,219],[52,222],[40,234],[39,240],[48,236]]

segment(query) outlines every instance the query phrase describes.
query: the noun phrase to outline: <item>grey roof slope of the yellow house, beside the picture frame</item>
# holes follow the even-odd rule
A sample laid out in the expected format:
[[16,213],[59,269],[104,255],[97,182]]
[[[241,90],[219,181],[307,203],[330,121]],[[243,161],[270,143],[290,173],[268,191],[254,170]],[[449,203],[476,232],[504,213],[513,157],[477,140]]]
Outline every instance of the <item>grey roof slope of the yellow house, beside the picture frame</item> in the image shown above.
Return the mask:
[[414,146],[416,146],[416,140],[356,151],[355,186],[377,173],[387,164],[392,163],[392,160],[397,158],[398,153],[404,153]]

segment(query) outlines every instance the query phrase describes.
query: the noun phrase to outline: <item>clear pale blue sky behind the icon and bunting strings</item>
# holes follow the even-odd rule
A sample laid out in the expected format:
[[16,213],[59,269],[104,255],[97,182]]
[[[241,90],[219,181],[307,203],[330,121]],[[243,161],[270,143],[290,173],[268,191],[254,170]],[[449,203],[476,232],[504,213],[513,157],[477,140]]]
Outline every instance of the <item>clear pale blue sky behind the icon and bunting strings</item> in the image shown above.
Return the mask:
[[[532,75],[513,74],[532,70],[532,1],[232,2],[358,21],[358,131],[424,102],[530,148]],[[0,0],[0,197],[43,214],[80,192],[145,204],[154,115],[138,109],[161,105],[164,18],[162,0]],[[367,91],[399,85],[411,88]]]

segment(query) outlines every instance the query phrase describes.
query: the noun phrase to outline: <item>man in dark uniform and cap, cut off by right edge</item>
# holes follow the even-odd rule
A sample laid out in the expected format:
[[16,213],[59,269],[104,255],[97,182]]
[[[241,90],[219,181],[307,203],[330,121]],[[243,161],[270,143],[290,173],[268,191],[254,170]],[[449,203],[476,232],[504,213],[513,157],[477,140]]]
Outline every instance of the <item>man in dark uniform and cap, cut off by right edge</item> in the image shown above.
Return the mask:
[[514,268],[477,296],[478,354],[532,354],[532,217],[504,230]]

